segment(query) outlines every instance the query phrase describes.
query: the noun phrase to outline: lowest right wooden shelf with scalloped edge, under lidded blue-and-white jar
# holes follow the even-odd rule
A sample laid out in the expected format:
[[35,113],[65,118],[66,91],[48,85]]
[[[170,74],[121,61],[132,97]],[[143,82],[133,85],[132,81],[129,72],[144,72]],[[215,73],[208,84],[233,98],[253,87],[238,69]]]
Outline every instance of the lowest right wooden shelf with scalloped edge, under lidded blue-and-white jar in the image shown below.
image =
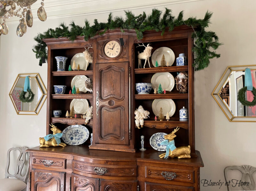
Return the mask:
[[178,120],[170,120],[170,121],[147,121],[144,120],[144,127],[156,128],[156,129],[166,129],[166,128],[176,128],[180,127],[183,129],[188,129],[188,121],[178,121]]

